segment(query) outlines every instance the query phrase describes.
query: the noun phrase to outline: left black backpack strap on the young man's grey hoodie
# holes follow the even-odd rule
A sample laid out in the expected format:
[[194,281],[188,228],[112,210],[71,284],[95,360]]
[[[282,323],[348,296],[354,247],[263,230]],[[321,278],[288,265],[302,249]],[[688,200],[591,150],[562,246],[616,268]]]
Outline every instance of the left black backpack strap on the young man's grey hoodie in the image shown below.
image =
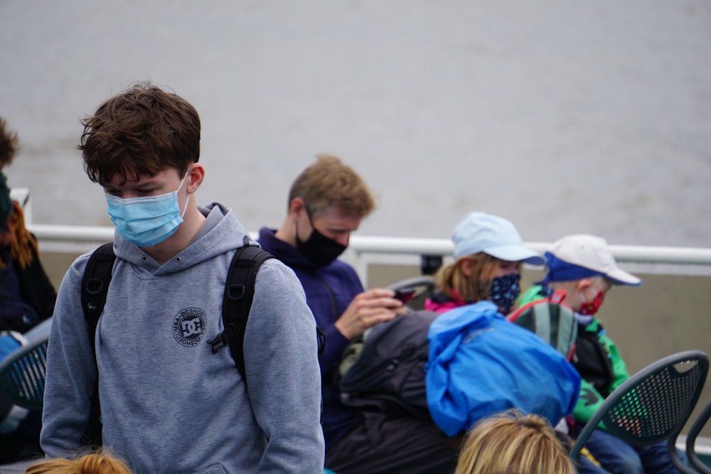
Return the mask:
[[[84,318],[87,321],[87,336],[91,341],[91,348],[96,364],[96,326],[99,317],[104,311],[106,295],[109,291],[111,281],[111,271],[114,267],[116,255],[114,254],[114,244],[108,243],[98,247],[89,257],[89,262],[82,277],[82,308]],[[99,404],[99,379],[94,384],[92,392],[91,411],[87,429],[80,439],[83,445],[98,447],[101,446],[101,407]]]

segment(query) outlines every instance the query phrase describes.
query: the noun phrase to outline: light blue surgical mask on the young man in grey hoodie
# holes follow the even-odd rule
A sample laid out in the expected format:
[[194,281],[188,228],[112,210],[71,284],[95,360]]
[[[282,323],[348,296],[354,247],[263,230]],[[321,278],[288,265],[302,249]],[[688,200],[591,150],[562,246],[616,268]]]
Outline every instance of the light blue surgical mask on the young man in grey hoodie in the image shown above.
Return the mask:
[[183,222],[190,201],[188,194],[181,214],[178,190],[183,187],[187,177],[188,173],[172,193],[129,199],[107,194],[108,212],[119,235],[137,247],[151,247],[173,235]]

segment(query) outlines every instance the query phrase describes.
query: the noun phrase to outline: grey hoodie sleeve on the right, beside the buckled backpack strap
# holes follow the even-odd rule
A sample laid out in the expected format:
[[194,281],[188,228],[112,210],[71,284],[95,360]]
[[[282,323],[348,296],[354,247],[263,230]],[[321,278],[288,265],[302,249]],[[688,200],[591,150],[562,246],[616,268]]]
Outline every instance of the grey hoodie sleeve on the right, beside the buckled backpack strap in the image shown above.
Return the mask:
[[257,273],[244,349],[252,411],[268,440],[260,473],[322,473],[316,323],[296,275],[276,259]]

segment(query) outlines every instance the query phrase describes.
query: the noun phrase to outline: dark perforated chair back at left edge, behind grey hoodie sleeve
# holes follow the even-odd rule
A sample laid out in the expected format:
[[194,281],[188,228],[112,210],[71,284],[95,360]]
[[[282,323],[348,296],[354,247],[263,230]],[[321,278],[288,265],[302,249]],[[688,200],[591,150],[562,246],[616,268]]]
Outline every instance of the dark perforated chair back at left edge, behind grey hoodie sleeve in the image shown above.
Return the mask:
[[51,324],[49,318],[29,330],[25,333],[28,344],[0,362],[0,394],[30,411],[42,410]]

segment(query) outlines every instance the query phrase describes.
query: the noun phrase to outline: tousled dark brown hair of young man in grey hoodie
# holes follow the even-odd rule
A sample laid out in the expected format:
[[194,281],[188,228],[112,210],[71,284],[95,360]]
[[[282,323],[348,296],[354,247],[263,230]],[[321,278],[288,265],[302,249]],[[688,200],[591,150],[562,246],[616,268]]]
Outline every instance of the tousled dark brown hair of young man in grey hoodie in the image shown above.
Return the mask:
[[176,168],[183,176],[200,158],[200,117],[195,107],[150,82],[137,82],[82,120],[77,149],[91,181],[122,183]]

